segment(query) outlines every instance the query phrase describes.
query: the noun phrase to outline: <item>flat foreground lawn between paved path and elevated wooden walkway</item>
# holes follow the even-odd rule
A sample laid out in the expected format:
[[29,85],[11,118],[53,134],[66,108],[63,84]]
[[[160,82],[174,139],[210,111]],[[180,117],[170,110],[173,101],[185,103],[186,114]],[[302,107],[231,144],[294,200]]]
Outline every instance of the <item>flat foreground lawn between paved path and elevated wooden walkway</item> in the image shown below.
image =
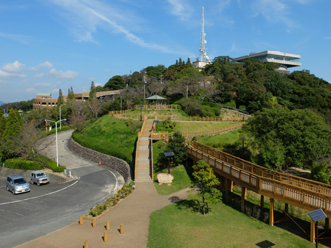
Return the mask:
[[[223,203],[211,205],[210,214],[203,216],[192,210],[194,197],[197,196],[151,214],[149,248],[314,247],[309,240],[250,218]],[[265,245],[268,242],[274,245]]]

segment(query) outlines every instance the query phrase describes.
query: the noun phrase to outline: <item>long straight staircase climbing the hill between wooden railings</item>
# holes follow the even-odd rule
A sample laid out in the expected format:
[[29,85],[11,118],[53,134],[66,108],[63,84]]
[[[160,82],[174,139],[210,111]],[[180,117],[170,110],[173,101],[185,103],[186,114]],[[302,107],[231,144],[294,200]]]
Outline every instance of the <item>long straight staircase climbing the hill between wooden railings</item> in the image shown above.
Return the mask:
[[154,120],[144,120],[146,123],[141,130],[141,136],[137,142],[135,181],[152,180],[152,142],[150,132]]

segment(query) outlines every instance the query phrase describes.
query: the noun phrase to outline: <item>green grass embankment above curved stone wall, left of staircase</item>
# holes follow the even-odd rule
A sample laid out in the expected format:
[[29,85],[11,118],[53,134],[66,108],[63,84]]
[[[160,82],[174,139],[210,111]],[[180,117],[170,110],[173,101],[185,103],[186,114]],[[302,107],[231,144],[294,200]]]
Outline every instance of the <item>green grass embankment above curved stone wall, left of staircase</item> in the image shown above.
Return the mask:
[[128,125],[126,120],[105,115],[90,125],[86,125],[81,133],[74,132],[72,137],[84,147],[121,158],[131,165],[137,133],[141,129],[139,121],[132,121],[132,123],[138,125],[139,128],[134,130],[134,125]]

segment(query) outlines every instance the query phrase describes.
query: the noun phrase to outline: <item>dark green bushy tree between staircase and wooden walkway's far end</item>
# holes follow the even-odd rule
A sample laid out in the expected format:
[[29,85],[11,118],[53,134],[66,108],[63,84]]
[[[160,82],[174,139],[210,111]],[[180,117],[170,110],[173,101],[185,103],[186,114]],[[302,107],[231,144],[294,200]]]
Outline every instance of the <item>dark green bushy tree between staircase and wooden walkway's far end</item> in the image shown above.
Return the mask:
[[181,135],[181,132],[175,132],[174,135],[169,138],[167,151],[174,153],[174,158],[172,159],[175,165],[179,165],[188,158],[185,138]]

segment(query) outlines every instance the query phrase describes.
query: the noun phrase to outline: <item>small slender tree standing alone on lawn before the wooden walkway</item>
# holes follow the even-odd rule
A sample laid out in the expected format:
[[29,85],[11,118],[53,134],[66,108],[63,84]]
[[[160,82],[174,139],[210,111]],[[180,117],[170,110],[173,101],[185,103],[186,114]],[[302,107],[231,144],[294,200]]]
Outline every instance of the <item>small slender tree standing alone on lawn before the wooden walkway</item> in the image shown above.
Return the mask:
[[212,168],[205,161],[198,161],[197,165],[193,165],[194,172],[192,176],[194,178],[192,190],[197,191],[198,196],[201,196],[202,202],[199,203],[202,207],[203,215],[205,215],[205,210],[210,209],[208,207],[208,202],[215,204],[221,200],[221,192],[215,187],[219,185],[219,179],[212,172]]

